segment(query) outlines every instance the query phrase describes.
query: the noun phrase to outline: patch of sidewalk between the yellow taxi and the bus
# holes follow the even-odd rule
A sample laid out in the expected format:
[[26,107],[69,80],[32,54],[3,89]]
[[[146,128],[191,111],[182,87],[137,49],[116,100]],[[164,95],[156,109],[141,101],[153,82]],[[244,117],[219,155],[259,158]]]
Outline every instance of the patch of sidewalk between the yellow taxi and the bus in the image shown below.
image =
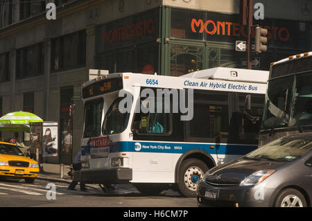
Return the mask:
[[51,182],[70,183],[71,177],[67,175],[69,172],[69,165],[64,165],[63,177],[60,177],[60,164],[42,163],[43,171],[40,172],[36,179],[48,180]]

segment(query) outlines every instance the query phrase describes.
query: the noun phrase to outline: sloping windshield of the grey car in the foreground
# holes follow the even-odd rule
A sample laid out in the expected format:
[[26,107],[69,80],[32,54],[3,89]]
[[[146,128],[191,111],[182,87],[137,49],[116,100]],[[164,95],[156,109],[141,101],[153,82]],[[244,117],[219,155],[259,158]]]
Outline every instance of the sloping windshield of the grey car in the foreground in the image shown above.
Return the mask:
[[299,137],[277,139],[254,150],[245,157],[248,159],[268,159],[274,161],[295,161],[312,150],[312,141]]

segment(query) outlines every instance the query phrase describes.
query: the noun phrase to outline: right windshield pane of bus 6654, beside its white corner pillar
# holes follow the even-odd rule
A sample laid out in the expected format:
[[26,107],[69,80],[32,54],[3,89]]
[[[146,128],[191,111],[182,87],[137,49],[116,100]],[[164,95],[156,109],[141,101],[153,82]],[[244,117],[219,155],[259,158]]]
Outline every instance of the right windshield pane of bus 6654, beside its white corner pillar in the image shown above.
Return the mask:
[[103,134],[119,134],[125,130],[125,127],[127,127],[130,113],[121,112],[119,109],[119,103],[121,100],[122,98],[114,100],[108,109],[103,122]]

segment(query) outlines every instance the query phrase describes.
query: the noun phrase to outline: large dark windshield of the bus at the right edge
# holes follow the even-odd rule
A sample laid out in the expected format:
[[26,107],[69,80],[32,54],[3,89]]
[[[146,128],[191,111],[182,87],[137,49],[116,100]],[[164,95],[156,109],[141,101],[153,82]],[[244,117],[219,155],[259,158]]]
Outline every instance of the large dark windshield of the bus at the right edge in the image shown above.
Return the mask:
[[311,85],[312,71],[270,80],[262,128],[311,125]]

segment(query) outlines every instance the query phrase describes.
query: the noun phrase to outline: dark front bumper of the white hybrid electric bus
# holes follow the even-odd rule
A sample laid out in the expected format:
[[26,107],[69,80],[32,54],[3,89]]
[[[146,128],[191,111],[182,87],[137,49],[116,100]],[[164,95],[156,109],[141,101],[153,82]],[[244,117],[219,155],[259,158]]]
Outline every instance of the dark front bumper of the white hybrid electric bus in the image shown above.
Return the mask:
[[127,184],[132,179],[131,168],[75,171],[73,179],[84,184]]

